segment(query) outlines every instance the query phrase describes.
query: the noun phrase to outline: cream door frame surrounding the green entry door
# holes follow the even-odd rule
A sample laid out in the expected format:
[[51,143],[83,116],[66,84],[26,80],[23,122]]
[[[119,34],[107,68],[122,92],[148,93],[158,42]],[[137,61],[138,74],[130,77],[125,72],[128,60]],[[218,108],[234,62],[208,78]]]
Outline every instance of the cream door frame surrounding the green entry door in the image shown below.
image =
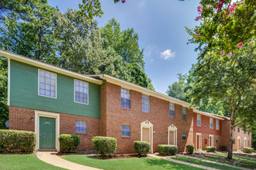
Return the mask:
[[36,151],[39,149],[40,145],[40,117],[50,117],[50,118],[55,118],[55,132],[56,132],[56,138],[55,138],[55,148],[57,151],[60,151],[60,142],[58,140],[60,136],[60,114],[55,114],[47,111],[40,111],[40,110],[35,110],[35,133],[36,133]]

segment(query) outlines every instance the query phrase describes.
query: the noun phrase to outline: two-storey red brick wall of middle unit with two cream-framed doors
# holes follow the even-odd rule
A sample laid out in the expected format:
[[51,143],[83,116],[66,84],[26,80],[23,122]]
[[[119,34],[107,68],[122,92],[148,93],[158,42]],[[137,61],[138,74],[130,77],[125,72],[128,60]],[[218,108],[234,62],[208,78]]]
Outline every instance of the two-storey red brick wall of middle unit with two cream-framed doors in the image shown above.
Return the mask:
[[[168,144],[168,127],[174,124],[178,134],[178,150],[185,151],[185,145],[193,141],[193,114],[187,108],[187,121],[182,121],[182,106],[175,104],[175,118],[169,117],[169,102],[150,97],[150,114],[142,111],[142,93],[130,90],[131,109],[121,107],[121,87],[106,83],[102,97],[106,97],[106,136],[117,139],[117,152],[133,152],[133,141],[140,141],[140,123],[150,121],[154,124],[153,148],[157,151],[160,144]],[[105,110],[102,110],[104,112]],[[122,124],[130,125],[130,138],[122,137]],[[186,132],[187,140],[182,141],[182,132]]]

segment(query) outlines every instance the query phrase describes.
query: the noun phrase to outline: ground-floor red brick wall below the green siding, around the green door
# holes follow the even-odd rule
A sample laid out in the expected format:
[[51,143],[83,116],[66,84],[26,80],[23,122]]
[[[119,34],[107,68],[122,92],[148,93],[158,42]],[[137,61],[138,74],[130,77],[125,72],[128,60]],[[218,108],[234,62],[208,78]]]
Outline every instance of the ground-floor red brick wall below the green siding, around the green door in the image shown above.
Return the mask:
[[[35,131],[35,119],[33,109],[22,107],[9,107],[9,129],[20,131]],[[94,117],[83,117],[73,114],[60,115],[60,134],[75,133],[75,121],[87,122],[87,134],[78,134],[81,138],[81,145],[78,150],[92,149],[92,137],[100,134],[100,120]]]

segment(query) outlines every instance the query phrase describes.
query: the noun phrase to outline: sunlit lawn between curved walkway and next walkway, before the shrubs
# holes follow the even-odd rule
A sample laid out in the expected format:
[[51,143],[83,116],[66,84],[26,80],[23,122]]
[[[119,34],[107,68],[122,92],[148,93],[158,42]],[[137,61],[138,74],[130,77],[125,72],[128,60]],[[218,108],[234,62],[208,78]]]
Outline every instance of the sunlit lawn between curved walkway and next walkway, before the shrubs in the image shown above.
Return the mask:
[[159,158],[123,158],[102,160],[98,158],[88,157],[85,155],[65,155],[61,158],[70,162],[81,165],[87,165],[95,168],[103,168],[109,170],[133,170],[133,169],[201,169],[189,165],[182,165],[175,162],[168,162]]

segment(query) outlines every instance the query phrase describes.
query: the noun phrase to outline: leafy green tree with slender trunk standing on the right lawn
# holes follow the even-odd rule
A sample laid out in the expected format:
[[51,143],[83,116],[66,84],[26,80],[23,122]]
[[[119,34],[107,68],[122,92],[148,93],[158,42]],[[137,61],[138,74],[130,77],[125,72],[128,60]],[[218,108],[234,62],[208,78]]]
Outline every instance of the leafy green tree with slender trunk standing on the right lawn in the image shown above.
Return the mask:
[[234,128],[244,125],[251,131],[255,127],[255,44],[242,47],[232,56],[221,56],[218,52],[208,53],[195,65],[195,87],[192,104],[208,97],[221,100],[230,114],[230,146],[228,157],[232,159]]

